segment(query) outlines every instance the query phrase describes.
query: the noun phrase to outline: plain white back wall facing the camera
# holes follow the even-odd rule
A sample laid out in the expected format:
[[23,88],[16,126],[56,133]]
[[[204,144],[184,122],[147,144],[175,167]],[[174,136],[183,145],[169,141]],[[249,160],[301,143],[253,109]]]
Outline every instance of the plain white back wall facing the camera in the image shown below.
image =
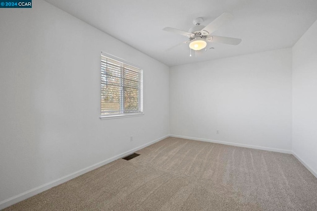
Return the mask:
[[169,101],[172,135],[287,152],[291,49],[171,67]]

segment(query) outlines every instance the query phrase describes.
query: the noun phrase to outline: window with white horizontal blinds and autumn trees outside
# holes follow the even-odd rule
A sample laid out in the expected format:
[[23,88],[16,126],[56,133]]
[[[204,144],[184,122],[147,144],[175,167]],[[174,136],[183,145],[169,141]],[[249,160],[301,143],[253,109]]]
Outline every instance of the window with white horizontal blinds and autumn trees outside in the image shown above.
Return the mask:
[[101,56],[101,118],[143,114],[142,70]]

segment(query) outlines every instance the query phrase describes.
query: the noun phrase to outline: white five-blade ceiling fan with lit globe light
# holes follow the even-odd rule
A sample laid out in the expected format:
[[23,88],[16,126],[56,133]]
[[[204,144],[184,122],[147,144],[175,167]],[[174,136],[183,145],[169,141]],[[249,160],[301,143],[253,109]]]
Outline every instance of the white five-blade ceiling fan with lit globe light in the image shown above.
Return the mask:
[[[180,46],[182,44],[189,43],[189,48],[196,52],[196,51],[200,51],[202,49],[205,49],[207,46],[207,42],[223,43],[223,44],[229,44],[229,45],[240,44],[241,39],[211,35],[211,33],[216,31],[220,26],[226,24],[227,22],[229,22],[232,19],[233,19],[232,14],[230,14],[228,12],[224,12],[219,17],[214,19],[207,26],[201,25],[201,23],[204,21],[203,18],[199,17],[199,18],[194,19],[193,23],[195,26],[193,28],[191,28],[188,32],[185,32],[185,31],[182,31],[179,29],[175,29],[175,28],[171,28],[171,27],[163,28],[163,30],[188,37],[189,40],[184,41],[176,46],[173,46],[172,48],[175,48],[175,47]],[[172,48],[170,48],[170,49],[172,49]],[[167,49],[166,51],[168,51],[170,49]],[[207,49],[205,49],[205,51],[206,50]]]

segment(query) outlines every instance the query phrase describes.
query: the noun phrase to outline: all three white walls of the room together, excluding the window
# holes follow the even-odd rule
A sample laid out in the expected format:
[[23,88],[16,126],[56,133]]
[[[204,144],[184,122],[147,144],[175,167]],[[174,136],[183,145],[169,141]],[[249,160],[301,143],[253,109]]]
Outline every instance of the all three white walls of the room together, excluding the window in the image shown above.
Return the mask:
[[[0,9],[0,28],[0,209],[169,128],[206,141],[292,149],[317,172],[316,22],[293,49],[170,72],[42,0],[32,9]],[[102,51],[144,69],[144,116],[99,119]]]

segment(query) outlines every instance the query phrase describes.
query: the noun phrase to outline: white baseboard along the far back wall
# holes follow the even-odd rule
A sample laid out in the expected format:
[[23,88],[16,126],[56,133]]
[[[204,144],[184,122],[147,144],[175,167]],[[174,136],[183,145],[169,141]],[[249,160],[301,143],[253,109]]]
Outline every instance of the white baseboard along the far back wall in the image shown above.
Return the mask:
[[276,148],[269,148],[269,147],[260,147],[260,146],[254,146],[254,145],[247,145],[247,144],[237,144],[232,142],[225,142],[225,141],[216,141],[211,139],[201,139],[201,138],[194,138],[194,137],[187,137],[187,136],[178,136],[178,135],[169,135],[170,137],[175,138],[182,138],[182,139],[191,139],[195,141],[204,141],[204,142],[211,142],[216,144],[225,144],[225,145],[231,145],[236,147],[245,147],[245,148],[252,148],[257,150],[266,150],[271,152],[278,152],[278,153],[286,153],[286,154],[292,154],[292,151],[290,150],[282,150],[282,149],[276,149]]

